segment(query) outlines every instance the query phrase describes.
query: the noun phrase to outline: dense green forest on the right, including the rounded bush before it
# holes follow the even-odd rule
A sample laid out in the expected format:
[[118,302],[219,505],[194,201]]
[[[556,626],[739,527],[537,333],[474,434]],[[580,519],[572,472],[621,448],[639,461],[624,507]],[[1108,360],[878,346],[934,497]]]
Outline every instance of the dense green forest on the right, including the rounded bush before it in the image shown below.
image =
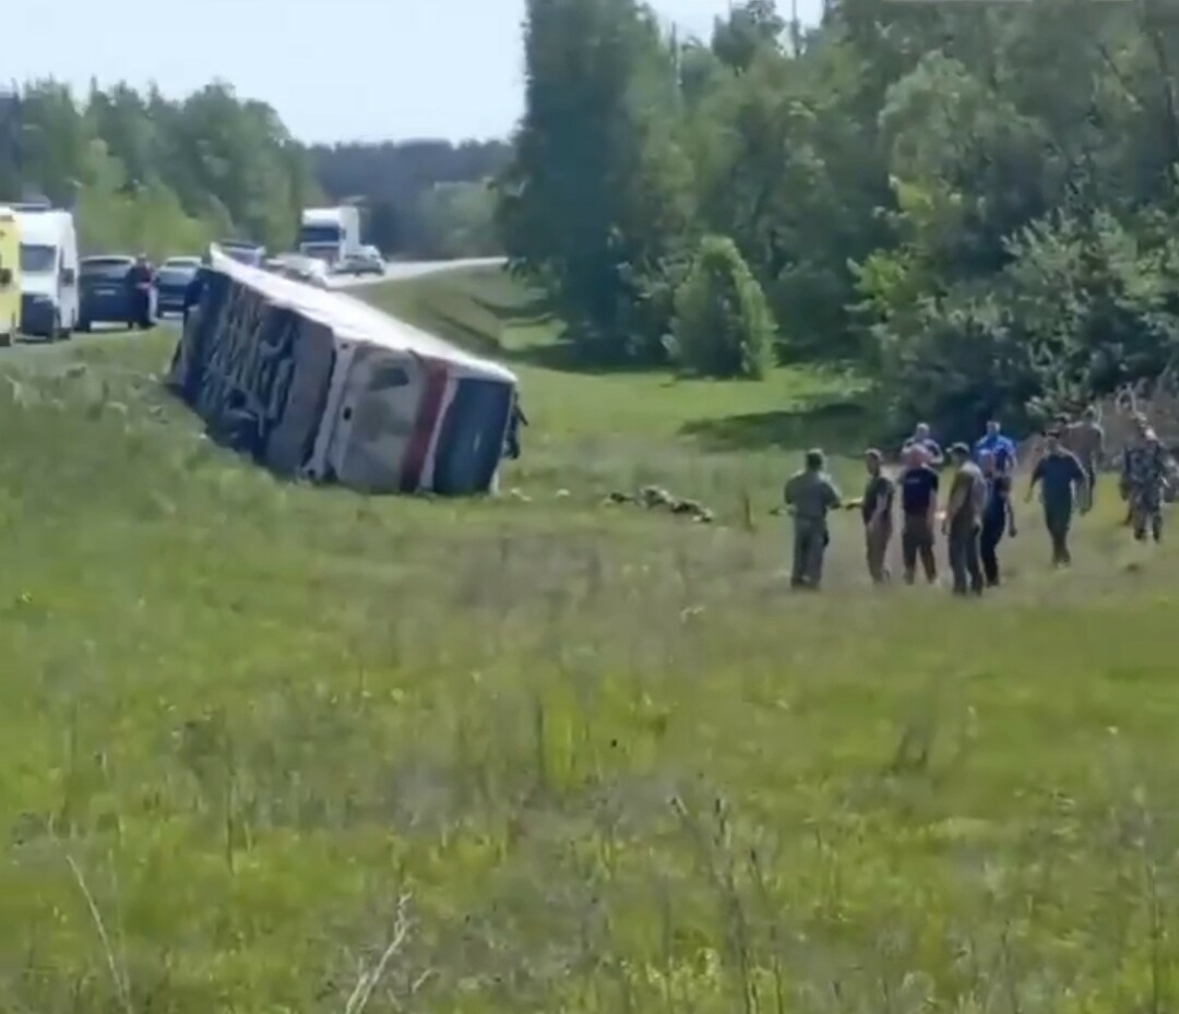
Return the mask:
[[1179,7],[528,0],[501,236],[598,361],[854,362],[900,424],[1179,350]]

